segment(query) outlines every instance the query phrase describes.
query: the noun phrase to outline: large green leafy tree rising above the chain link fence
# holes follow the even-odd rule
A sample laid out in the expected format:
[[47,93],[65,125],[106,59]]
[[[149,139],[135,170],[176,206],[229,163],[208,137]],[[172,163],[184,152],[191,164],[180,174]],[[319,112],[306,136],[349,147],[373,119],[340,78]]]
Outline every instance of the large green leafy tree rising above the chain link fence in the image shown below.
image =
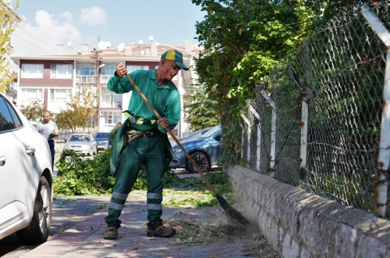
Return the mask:
[[267,79],[279,60],[294,53],[313,29],[324,25],[344,6],[361,1],[192,0],[207,12],[196,23],[205,51],[196,60],[199,83],[216,101],[224,131],[223,157],[237,162],[246,99],[255,98],[255,83]]

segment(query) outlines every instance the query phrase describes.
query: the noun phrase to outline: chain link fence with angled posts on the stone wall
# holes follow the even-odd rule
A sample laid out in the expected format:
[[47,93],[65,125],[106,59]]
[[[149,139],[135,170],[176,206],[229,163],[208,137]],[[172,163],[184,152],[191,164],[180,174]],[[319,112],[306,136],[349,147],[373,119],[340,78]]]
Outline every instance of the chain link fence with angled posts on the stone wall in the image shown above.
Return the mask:
[[[387,30],[389,3],[372,9]],[[378,180],[386,55],[359,8],[315,31],[242,110],[248,167],[344,205],[389,207],[376,201],[378,184],[389,180],[388,172]]]

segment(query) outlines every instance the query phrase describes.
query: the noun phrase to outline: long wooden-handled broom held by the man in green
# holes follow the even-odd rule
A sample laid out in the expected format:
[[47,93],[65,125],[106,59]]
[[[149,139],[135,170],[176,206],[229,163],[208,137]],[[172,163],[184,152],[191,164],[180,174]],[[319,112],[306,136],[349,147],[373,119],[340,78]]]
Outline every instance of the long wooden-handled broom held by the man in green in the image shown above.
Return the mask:
[[[135,90],[137,90],[137,92],[140,94],[140,96],[142,97],[142,99],[144,99],[145,103],[151,108],[151,110],[153,111],[153,114],[155,114],[155,116],[157,117],[157,119],[161,119],[161,117],[159,116],[159,114],[156,112],[156,110],[153,108],[153,106],[151,105],[151,103],[149,103],[148,99],[146,99],[146,96],[144,96],[144,94],[141,92],[140,88],[138,88],[138,86],[135,85],[134,81],[130,78],[129,75],[125,75],[127,79],[129,79],[130,83],[133,84]],[[234,209],[233,207],[231,207],[229,205],[229,203],[227,203],[227,201],[222,197],[220,196],[220,194],[218,194],[216,192],[216,190],[213,188],[213,185],[211,185],[211,183],[209,182],[209,180],[205,177],[205,175],[203,174],[202,171],[200,171],[200,169],[198,168],[198,166],[196,166],[194,160],[192,160],[192,158],[190,157],[190,155],[187,153],[187,151],[185,151],[185,149],[183,148],[183,146],[181,145],[181,143],[179,142],[179,140],[177,140],[176,136],[174,136],[174,134],[172,133],[172,131],[170,131],[169,128],[166,128],[166,130],[168,131],[168,133],[170,134],[170,136],[172,136],[173,140],[177,143],[177,145],[180,147],[181,151],[183,151],[183,153],[185,154],[185,156],[187,157],[188,160],[190,160],[190,162],[192,163],[192,166],[194,166],[194,168],[196,169],[196,171],[198,171],[198,173],[200,174],[200,177],[202,177],[203,180],[205,180],[207,186],[209,187],[209,189],[211,190],[211,192],[213,192],[213,194],[216,196],[218,202],[220,202],[220,205],[222,207],[222,209],[224,209],[224,214],[229,222],[229,224],[231,224],[233,227],[236,227],[238,226],[239,224],[242,224],[243,226],[245,227],[248,227],[250,226],[250,222],[247,218],[245,218],[239,211],[237,211],[237,209]]]

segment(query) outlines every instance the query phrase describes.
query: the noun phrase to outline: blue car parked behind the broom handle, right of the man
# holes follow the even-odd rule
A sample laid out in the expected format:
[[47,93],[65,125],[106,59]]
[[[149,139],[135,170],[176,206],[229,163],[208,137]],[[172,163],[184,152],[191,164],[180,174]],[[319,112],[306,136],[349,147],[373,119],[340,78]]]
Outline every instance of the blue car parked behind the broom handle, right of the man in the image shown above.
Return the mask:
[[[200,138],[181,142],[185,151],[198,165],[200,171],[204,172],[218,164],[222,147],[222,129],[220,126],[207,131]],[[185,168],[190,172],[197,172],[192,163],[187,159],[177,144],[172,145],[173,162],[172,168]]]

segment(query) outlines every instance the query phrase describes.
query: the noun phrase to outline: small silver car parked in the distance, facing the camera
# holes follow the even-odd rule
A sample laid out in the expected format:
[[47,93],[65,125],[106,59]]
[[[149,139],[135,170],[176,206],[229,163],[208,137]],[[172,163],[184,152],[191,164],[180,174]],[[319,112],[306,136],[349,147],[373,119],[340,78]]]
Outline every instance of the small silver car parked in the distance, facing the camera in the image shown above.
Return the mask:
[[73,150],[93,156],[97,153],[97,144],[90,133],[73,133],[64,145],[64,151]]

